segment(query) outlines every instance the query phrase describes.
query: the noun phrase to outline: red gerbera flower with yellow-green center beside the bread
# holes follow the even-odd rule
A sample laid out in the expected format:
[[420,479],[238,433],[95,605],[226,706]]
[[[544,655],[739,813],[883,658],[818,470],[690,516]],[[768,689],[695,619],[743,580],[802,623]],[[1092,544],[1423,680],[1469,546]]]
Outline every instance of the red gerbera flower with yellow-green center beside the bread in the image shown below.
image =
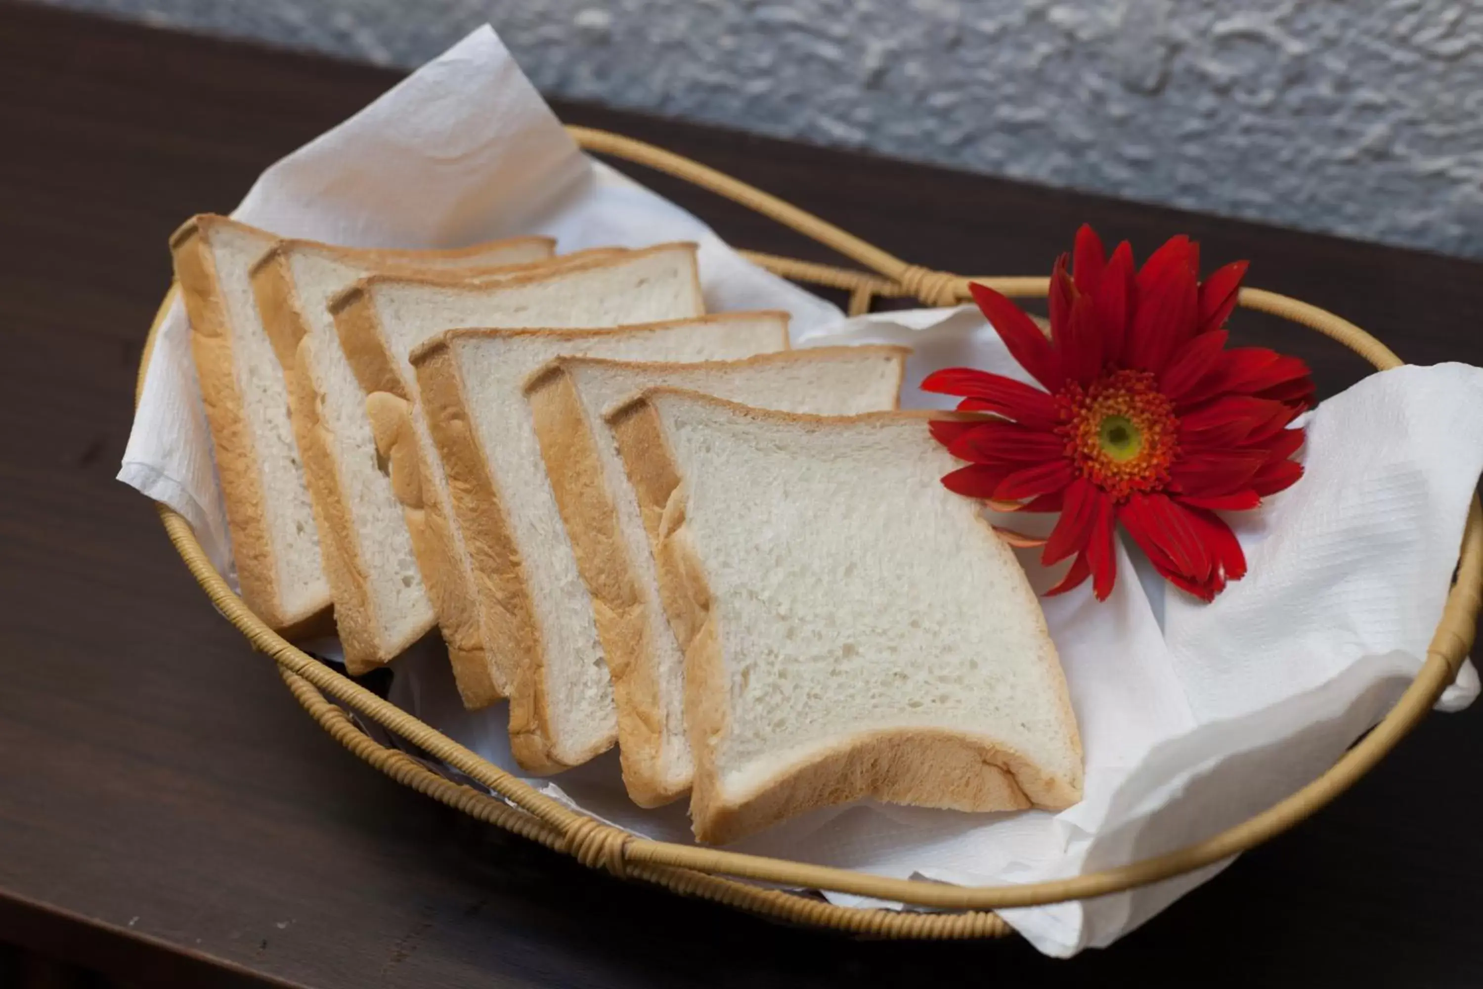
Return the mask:
[[970,461],[942,480],[1000,510],[1060,512],[1041,560],[1075,559],[1051,595],[1087,577],[1099,601],[1112,592],[1117,523],[1160,574],[1204,601],[1246,574],[1216,512],[1255,509],[1302,476],[1290,457],[1304,433],[1289,424],[1314,387],[1296,357],[1225,347],[1244,274],[1238,261],[1200,282],[1200,248],[1183,236],[1134,273],[1127,242],[1109,258],[1083,227],[1074,265],[1062,255],[1051,273],[1048,340],[1007,298],[970,286],[1046,390],[971,368],[928,375],[927,391],[997,417],[933,423],[933,436]]

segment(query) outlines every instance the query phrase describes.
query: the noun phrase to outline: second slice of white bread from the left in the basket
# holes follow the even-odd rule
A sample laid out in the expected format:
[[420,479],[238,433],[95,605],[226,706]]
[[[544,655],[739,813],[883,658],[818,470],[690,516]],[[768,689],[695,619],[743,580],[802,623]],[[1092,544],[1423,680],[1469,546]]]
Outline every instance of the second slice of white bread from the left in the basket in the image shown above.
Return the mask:
[[365,394],[326,305],[371,273],[500,277],[529,270],[553,249],[549,237],[455,251],[351,251],[282,240],[252,268],[258,313],[288,380],[289,420],[351,673],[399,655],[432,629],[433,608],[402,509],[375,457]]

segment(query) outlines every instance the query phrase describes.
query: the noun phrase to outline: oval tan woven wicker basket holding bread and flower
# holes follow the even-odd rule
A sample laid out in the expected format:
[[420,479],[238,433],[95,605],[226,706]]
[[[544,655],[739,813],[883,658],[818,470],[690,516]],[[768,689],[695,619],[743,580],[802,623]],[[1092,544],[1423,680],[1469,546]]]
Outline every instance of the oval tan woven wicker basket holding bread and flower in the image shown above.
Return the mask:
[[[968,279],[906,264],[817,216],[696,162],[614,133],[584,128],[571,128],[571,133],[590,151],[626,159],[701,185],[786,224],[869,268],[875,274],[771,255],[747,255],[752,261],[783,277],[848,291],[851,313],[866,311],[875,297],[915,297],[928,305],[949,305],[968,298]],[[974,280],[1014,297],[1043,297],[1048,285],[1048,279],[1044,277],[983,277]],[[150,329],[139,368],[141,388],[156,331],[172,298],[174,289]],[[1360,328],[1314,305],[1250,288],[1241,289],[1240,304],[1332,337],[1376,368],[1394,368],[1401,363],[1394,353]],[[1452,593],[1447,596],[1441,621],[1427,651],[1425,664],[1390,715],[1327,773],[1256,817],[1179,851],[1071,879],[965,888],[912,879],[887,879],[847,869],[648,841],[578,814],[537,793],[498,767],[294,648],[248,611],[242,599],[231,592],[206,559],[185,519],[165,506],[159,506],[159,512],[171,541],[206,595],[227,620],[248,636],[254,648],[267,652],[277,663],[283,681],[298,703],[304,706],[304,710],[356,756],[399,783],[472,817],[567,853],[586,866],[607,869],[621,878],[654,882],[675,893],[715,900],[785,921],[832,927],[873,937],[967,939],[1004,936],[1011,928],[994,913],[995,909],[1118,893],[1219,861],[1281,833],[1342,793],[1425,716],[1441,691],[1456,676],[1458,667],[1473,645],[1480,592],[1483,592],[1483,513],[1480,513],[1479,500],[1474,497]],[[331,703],[326,695],[335,703]],[[408,755],[378,744],[347,716],[346,709],[354,710],[357,716],[374,721],[415,744],[469,780],[488,787],[497,796],[445,778]],[[839,907],[814,897],[762,888],[750,882],[739,882],[739,879],[755,879],[801,890],[854,893],[936,907],[940,912]]]

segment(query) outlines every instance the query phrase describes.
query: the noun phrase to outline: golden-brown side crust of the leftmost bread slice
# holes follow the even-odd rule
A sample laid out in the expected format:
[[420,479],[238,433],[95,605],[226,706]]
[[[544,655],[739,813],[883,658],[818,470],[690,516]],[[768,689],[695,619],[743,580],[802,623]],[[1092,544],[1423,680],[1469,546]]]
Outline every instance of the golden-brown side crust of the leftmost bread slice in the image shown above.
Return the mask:
[[217,225],[245,227],[224,216],[193,216],[171,236],[171,254],[190,317],[191,357],[200,378],[206,423],[211,426],[242,599],[271,629],[298,633],[322,624],[329,612],[329,595],[326,589],[322,601],[311,601],[292,611],[283,603],[277,559],[268,537],[267,498],[258,470],[257,443],[237,388],[233,331],[208,243],[209,230]]

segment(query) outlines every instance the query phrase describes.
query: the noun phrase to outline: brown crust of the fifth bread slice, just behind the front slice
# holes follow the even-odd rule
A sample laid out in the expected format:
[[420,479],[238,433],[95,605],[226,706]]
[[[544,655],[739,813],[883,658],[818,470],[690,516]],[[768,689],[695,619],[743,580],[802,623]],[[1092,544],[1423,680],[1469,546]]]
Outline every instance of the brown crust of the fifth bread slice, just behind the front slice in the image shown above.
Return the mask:
[[[911,353],[908,347],[872,344],[787,350],[785,340],[785,348],[776,353],[724,363],[727,368],[768,366],[795,363],[802,357],[832,360],[860,353],[902,357],[896,386],[899,399],[905,356]],[[587,420],[569,375],[569,368],[575,365],[644,369],[697,365],[558,357],[531,375],[525,388],[546,474],[572,543],[577,569],[592,595],[598,638],[612,676],[623,783],[629,798],[639,807],[661,807],[684,796],[690,790],[691,777],[666,773],[669,753],[664,747],[664,704],[648,635],[648,614],[596,448],[596,443],[605,440],[605,424]]]

